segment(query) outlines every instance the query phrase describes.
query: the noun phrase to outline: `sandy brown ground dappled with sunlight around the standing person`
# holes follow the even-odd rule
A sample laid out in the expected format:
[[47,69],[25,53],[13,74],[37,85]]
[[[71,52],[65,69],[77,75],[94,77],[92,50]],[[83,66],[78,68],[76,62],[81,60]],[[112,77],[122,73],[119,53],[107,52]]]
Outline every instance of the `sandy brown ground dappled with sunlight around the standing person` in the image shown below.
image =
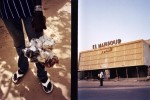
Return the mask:
[[[54,84],[51,94],[46,94],[36,76],[36,67],[30,70],[19,85],[10,78],[17,70],[17,54],[13,41],[0,20],[0,100],[70,100],[71,95],[71,3],[69,0],[43,0],[47,18],[45,34],[56,39],[54,52],[59,64],[47,68]],[[27,38],[26,38],[26,42]]]

